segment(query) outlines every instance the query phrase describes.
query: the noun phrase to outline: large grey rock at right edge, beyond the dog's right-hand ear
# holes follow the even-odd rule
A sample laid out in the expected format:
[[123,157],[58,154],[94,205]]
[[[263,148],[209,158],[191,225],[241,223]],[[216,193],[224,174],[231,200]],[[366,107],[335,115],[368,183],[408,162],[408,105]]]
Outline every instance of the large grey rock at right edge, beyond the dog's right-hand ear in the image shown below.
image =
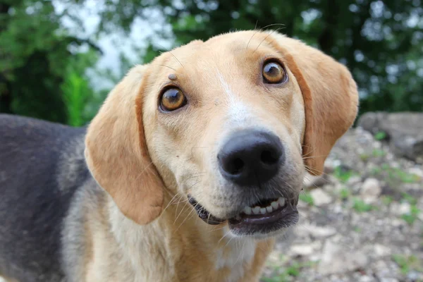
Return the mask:
[[393,152],[423,164],[423,114],[384,112],[364,114],[358,125],[376,134],[386,133]]

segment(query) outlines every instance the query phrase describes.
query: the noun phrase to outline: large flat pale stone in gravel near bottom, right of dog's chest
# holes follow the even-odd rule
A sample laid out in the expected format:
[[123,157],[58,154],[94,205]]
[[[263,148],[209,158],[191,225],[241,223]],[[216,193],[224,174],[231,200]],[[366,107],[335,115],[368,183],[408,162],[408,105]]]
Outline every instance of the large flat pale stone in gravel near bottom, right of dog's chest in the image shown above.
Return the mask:
[[348,250],[331,240],[326,240],[318,271],[323,275],[343,274],[364,268],[367,264],[369,259],[362,251]]

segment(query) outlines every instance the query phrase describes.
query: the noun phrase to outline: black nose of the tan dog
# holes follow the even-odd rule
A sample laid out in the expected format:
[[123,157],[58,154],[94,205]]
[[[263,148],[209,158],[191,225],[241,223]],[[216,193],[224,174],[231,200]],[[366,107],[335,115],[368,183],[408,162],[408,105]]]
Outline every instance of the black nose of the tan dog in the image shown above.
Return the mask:
[[259,185],[278,173],[283,146],[274,134],[242,130],[223,145],[217,159],[226,179],[242,186]]

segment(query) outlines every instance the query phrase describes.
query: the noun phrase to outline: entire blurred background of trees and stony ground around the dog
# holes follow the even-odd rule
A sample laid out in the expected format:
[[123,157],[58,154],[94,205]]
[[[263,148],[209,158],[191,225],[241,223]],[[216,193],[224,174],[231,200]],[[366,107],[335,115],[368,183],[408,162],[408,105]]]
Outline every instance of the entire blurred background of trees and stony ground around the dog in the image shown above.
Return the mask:
[[344,63],[361,100],[263,281],[423,281],[421,0],[0,0],[0,113],[85,125],[135,63],[262,27]]

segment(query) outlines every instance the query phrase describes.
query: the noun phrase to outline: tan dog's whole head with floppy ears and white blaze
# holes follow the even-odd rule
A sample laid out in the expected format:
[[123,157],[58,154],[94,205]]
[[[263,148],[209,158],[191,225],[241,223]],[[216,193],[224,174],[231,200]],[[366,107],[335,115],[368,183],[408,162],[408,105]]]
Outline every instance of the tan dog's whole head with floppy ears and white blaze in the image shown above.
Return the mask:
[[233,32],[130,71],[92,121],[85,153],[138,223],[159,216],[167,189],[206,223],[262,238],[298,221],[305,169],[323,171],[356,114],[341,64],[274,32]]

